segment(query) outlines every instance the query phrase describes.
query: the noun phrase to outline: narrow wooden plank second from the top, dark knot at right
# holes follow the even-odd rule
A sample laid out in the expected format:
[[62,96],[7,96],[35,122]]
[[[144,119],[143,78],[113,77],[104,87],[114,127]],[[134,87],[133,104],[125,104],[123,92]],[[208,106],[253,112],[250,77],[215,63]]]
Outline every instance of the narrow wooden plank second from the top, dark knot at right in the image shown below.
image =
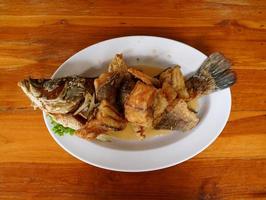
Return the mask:
[[[157,23],[152,23],[157,22]],[[128,17],[128,16],[69,16],[69,15],[0,15],[2,27],[48,27],[61,26],[93,26],[93,27],[226,27],[237,26],[247,30],[265,30],[265,19],[227,19],[223,18],[195,18],[188,20],[180,17]]]

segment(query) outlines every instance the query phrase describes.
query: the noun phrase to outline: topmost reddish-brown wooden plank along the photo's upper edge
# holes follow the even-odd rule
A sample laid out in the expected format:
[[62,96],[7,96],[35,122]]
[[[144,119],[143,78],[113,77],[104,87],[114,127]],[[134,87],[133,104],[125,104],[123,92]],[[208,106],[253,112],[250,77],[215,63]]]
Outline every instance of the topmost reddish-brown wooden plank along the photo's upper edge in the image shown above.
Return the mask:
[[[197,17],[226,16],[263,17],[265,3],[263,1],[2,1],[2,14],[12,15],[81,15],[81,16],[160,16]],[[27,6],[27,9],[25,9]],[[148,9],[147,9],[148,8]],[[208,11],[206,13],[206,11]]]

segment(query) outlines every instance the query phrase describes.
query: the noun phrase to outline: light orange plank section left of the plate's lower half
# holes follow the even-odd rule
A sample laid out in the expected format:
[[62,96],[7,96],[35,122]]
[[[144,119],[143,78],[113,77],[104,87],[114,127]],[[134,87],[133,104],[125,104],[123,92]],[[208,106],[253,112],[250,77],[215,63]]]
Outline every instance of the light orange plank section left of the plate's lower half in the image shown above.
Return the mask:
[[5,112],[0,119],[0,162],[80,162],[56,144],[40,111]]

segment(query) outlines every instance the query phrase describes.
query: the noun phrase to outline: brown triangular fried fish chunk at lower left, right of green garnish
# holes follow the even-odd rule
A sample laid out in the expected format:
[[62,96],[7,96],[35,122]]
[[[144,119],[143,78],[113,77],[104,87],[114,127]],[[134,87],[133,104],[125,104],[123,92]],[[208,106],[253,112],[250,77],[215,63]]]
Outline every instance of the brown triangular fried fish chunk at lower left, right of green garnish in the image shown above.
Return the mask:
[[106,100],[94,110],[93,117],[75,134],[84,139],[96,138],[108,131],[119,131],[126,127],[126,120]]

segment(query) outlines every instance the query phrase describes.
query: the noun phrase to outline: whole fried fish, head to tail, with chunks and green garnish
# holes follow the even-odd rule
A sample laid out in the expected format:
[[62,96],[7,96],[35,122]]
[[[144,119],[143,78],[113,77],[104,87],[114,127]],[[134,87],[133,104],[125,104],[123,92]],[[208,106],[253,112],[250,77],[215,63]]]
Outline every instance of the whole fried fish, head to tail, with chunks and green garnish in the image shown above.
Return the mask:
[[220,53],[211,54],[188,79],[178,65],[149,76],[117,54],[98,77],[29,78],[18,85],[34,107],[51,116],[55,133],[106,140],[127,124],[140,138],[148,129],[191,130],[200,120],[198,99],[235,82]]

